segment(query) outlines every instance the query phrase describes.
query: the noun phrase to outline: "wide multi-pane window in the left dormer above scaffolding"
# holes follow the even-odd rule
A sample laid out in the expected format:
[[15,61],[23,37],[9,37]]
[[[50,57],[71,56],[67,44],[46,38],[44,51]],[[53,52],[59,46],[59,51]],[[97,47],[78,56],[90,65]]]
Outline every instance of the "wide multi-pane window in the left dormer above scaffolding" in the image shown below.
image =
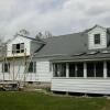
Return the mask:
[[24,43],[12,44],[12,53],[24,53]]

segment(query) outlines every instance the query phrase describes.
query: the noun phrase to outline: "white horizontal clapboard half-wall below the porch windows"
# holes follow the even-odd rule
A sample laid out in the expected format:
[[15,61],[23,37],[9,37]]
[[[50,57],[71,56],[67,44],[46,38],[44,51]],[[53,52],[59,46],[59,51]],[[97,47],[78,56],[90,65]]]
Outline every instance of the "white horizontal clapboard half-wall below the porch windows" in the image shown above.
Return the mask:
[[52,90],[110,95],[110,79],[52,79]]

